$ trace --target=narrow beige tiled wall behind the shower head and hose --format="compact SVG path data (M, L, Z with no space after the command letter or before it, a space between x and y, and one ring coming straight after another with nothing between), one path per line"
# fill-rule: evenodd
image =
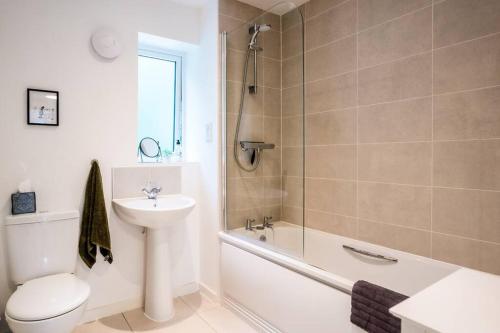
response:
M247 218L262 223L264 216L280 219L281 214L281 23L280 17L265 14L236 0L219 2L220 31L229 32L227 40L227 198L228 227L243 227ZM264 152L254 172L242 171L233 158L233 140L238 117L245 53L250 35L250 20L271 24L270 31L258 37L263 47L258 60L258 93L245 95L244 115L239 140L265 141L276 145ZM247 85L253 83L253 55L248 64ZM249 154L240 149L244 165Z

